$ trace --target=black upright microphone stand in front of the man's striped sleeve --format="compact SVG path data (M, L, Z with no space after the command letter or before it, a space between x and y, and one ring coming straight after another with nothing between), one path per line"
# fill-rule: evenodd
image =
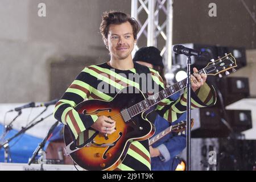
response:
M187 55L187 167L186 171L191 171L191 55Z

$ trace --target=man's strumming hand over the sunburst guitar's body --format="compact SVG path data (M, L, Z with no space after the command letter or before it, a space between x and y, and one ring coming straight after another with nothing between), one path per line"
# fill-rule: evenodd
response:
M105 115L101 115L91 127L102 134L110 135L115 131L115 121Z

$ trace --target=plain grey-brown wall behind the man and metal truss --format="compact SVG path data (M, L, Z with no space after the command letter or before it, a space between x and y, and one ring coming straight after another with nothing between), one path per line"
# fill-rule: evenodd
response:
M46 3L46 17L38 16L40 2ZM217 5L217 17L208 16L210 2ZM256 2L245 3L255 13ZM73 60L77 68L66 73L73 80L81 61L86 65L108 60L99 32L102 12L130 13L130 7L130 0L0 1L0 102L48 101L51 85L57 84L52 83L52 63ZM255 22L239 0L174 0L173 42L254 49ZM247 69L253 69L255 61L252 56ZM67 81L62 89L70 80L60 80ZM251 85L254 94L256 85Z

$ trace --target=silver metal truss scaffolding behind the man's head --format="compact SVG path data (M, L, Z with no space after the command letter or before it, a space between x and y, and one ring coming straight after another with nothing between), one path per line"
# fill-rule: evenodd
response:
M131 0L131 17L141 26L137 45L146 38L147 44L141 46L158 47L167 72L172 67L172 3L173 0ZM138 48L135 46L134 51Z

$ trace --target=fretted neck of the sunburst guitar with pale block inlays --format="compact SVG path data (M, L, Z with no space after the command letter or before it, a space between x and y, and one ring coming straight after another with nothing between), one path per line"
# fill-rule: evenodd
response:
M198 73L199 74L205 73L205 71L204 71L204 69L201 69ZM127 109L127 111L129 113L130 117L132 118L135 115L141 113L142 111L149 109L151 106L158 104L164 98L170 97L172 94L179 92L179 90L184 89L185 87L187 87L187 78L185 78L182 81L177 82L176 84L174 84L166 89L163 89L162 91L154 94L153 96L146 98L145 100L143 100L141 102L138 102L137 104L129 107Z

